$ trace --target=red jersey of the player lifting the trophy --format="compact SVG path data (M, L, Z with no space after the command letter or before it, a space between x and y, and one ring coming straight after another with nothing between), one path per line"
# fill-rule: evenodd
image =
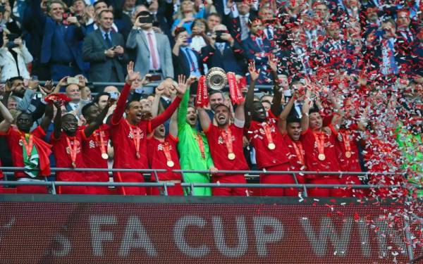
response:
M228 127L231 131L231 137L225 130L221 130L216 125L210 124L204 133L209 142L210 153L212 154L214 166L218 170L248 170L247 161L243 152L243 128L236 127L234 124ZM223 137L228 137L232 142L233 154L235 158L228 158L228 148Z

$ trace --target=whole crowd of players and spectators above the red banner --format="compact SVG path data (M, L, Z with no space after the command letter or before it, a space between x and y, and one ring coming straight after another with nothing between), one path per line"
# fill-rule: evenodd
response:
M420 1L405 0L1 0L1 164L24 167L15 172L23 181L51 180L51 167L166 169L150 180L175 183L170 195L186 192L180 182L245 183L245 175L222 170L369 171L365 179L259 179L402 184L310 188L309 196L403 196L422 184L422 18ZM204 76L216 68L229 92L208 89ZM209 173L172 172L180 168ZM108 172L54 177L109 181ZM113 180L145 177L114 172ZM249 189L195 187L193 194L246 196Z

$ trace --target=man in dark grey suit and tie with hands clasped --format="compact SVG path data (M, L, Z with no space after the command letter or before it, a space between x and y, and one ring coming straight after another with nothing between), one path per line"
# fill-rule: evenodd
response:
M124 65L128 60L123 50L125 42L121 34L113 32L113 13L99 13L99 28L87 35L82 46L82 58L90 62L90 81L124 82Z

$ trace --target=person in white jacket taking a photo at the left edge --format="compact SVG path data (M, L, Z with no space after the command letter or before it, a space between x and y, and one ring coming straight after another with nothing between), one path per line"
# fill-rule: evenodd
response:
M26 65L32 61L32 56L22 39L17 34L9 33L4 30L0 40L0 82L15 76L30 79Z

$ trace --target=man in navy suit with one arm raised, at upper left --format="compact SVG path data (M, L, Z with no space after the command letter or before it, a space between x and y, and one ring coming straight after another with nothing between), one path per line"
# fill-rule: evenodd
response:
M47 14L40 8L39 0L33 0L33 13L43 28L41 63L48 64L53 80L81 73L84 64L78 42L83 39L82 27L75 16L63 19L65 5L61 1L50 1Z

